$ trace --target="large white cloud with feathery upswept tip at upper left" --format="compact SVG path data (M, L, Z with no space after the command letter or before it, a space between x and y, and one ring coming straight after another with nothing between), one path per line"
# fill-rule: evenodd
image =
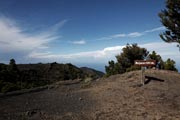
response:
M24 33L23 28L18 26L15 21L0 17L0 50L8 53L46 49L51 41L60 37L55 33L65 23L66 20L60 21L49 31L43 31L38 35L30 35Z

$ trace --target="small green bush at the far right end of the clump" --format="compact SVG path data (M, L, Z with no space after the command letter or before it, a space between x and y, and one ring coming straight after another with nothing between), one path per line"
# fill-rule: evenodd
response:
M167 61L164 62L164 69L177 71L175 64L176 62L174 60L171 60L170 58L168 58Z

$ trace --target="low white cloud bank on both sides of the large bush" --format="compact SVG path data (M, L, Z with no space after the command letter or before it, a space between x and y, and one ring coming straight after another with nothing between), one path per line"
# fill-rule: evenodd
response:
M146 48L148 51L156 51L162 56L164 60L167 58L180 61L179 51L176 44L169 44L165 42L153 42L146 44L139 44L140 47ZM109 60L115 60L115 56L122 52L122 48L125 46L112 46L106 47L102 50L79 52L72 54L53 54L50 52L46 53L32 53L28 57L33 59L51 59L60 61L78 61L90 62L90 63L107 63ZM171 52L174 51L174 52ZM179 63L178 63L179 64Z

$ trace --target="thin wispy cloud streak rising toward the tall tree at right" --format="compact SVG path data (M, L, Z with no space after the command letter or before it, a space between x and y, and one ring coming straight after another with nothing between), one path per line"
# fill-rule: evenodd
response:
M153 28L151 30L146 30L143 32L132 32L132 33L128 33L128 34L119 33L119 34L114 34L114 35L110 35L110 36L106 36L106 37L101 37L101 38L98 38L98 40L111 40L111 39L124 38L124 37L135 38L135 37L141 37L147 33L160 31L160 30L164 30L164 29L165 29L165 27L157 27L157 28Z

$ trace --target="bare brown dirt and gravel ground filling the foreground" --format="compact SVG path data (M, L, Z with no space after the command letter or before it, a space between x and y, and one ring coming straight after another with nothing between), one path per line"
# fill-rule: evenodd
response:
M54 84L39 92L0 98L0 119L179 120L180 74L133 71L85 83Z

